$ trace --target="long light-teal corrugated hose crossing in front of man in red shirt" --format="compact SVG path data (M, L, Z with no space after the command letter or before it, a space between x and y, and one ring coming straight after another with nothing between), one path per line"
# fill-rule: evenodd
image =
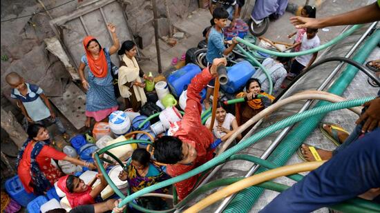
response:
M265 136L268 136L269 134L272 134L273 132L276 132L278 130L281 130L288 125L292 125L296 122L302 121L306 118L309 118L311 116L315 116L317 114L324 114L327 112L331 112L334 110L340 110L343 108L352 108L355 106L359 106L367 101L370 101L374 99L374 97L365 97L361 99L354 99L354 100L348 100L348 101L342 101L338 103L331 103L328 105L323 105L319 108L314 108L312 110L307 110L305 112L301 112L298 114L294 114L292 116L289 116L288 118L284 119L283 121L278 121L274 123L273 125L270 125L268 128L265 128L265 130L261 130L260 132L257 132L256 134L250 136L247 140L241 141L234 147L230 148L229 150L226 150L219 156L216 156L214 159L211 159L210 161L200 165L198 168L191 170L189 172L186 172L184 174L181 174L179 176L175 176L172 179L169 179L167 181L162 181L160 183L156 183L155 185L151 185L149 187L145 187L144 189L135 192L131 194L130 196L127 196L125 199L123 199L122 202L120 202L119 206L126 205L126 203L129 203L133 201L133 199L136 199L137 197L141 196L142 194L146 194L149 192L152 192L154 190L158 190L162 187L165 187L167 185L171 185L173 183L178 183L179 181L183 181L185 179L188 179L191 176L194 176L196 174L199 174L200 172L203 172L205 170L208 170L209 168L213 167L214 165L217 165L218 163L224 161L232 154L236 154L236 152L239 152L240 150L243 150L250 145L254 144L256 141L263 139Z

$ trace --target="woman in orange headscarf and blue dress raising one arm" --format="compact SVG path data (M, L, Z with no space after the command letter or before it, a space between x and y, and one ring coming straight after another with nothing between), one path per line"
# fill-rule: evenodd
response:
M108 23L113 39L111 48L102 48L99 41L94 37L84 38L83 45L86 54L79 64L79 77L82 85L87 90L86 94L86 127L91 125L91 117L95 121L102 121L111 112L117 110L118 105L113 90L113 77L111 75L111 58L120 47L117 39L116 28L112 23ZM84 77L84 68L88 65L88 78Z

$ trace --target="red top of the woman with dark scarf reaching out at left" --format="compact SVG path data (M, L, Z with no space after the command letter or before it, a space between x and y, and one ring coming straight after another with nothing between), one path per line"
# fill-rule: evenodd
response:
M33 192L33 188L30 186L30 182L32 181L32 177L30 176L30 154L32 153L34 144L35 143L29 143L26 146L17 170L19 179L28 193ZM65 157L66 154L64 154L64 152L59 152L49 145L44 145L41 152L39 152L36 157L39 169L45 174L46 178L50 181L50 183L52 183L52 185L64 174L55 168L55 166L50 164L51 159L63 160Z

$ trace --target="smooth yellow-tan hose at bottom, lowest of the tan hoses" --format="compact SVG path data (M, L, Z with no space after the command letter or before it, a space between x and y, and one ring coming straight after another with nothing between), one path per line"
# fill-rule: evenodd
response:
M319 166L321 166L325 162L326 161L312 161L306 163L297 163L294 165L285 165L281 168L276 168L260 174L255 174L254 176L250 176L227 187L224 187L222 188L222 190L214 192L213 194L205 197L204 199L196 203L196 205L192 205L191 207L189 207L189 209L184 211L184 213L199 212L200 210L203 210L205 207L215 203L216 201L224 199L225 197L234 194L235 192L238 192L240 190L243 190L251 185L263 183L265 181L275 179L279 176L286 176L298 172L309 172L311 170L319 168Z

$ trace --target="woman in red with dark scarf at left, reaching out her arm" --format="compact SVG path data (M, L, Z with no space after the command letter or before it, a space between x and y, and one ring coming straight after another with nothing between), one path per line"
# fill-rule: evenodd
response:
M48 130L39 124L28 127L28 140L23 144L17 156L17 174L26 192L44 194L64 174L51 164L51 159L69 161L91 169L95 165L66 156L52 148Z

